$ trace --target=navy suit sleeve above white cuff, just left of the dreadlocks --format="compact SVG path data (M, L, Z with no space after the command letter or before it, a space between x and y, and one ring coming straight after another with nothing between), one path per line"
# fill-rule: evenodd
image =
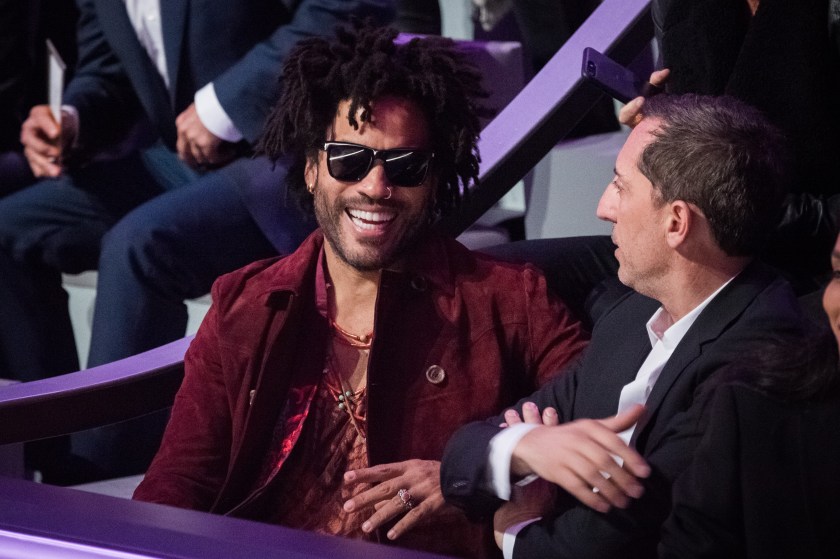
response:
M385 0L303 0L288 24L277 28L239 62L213 80L219 103L236 128L253 144L277 101L283 61L301 39L331 33L351 16L384 24L394 16Z

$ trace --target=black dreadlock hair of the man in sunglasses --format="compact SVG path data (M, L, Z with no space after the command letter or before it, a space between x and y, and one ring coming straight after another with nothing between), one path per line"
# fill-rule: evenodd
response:
M419 105L429 124L438 177L438 214L457 208L470 183L478 179L479 105L487 97L481 74L466 62L454 43L441 37L394 42L397 31L354 20L336 30L336 37L304 39L283 66L282 93L269 115L257 151L276 161L292 159L289 192L312 211L306 195L307 159L316 160L327 141L338 105L349 100L349 123L358 129L370 119L371 103L385 96Z

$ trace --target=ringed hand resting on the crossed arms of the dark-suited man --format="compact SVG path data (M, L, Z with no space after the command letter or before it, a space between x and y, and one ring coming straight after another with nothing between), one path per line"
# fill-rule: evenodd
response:
M527 408L524 410L527 413ZM643 413L643 406L634 406L608 419L537 427L514 448L511 474L536 474L599 512L614 506L626 508L631 498L642 496L644 488L638 478L650 475L650 467L617 433L636 423Z

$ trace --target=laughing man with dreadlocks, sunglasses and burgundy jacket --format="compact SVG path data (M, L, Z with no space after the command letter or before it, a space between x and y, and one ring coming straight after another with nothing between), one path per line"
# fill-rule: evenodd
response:
M262 150L320 225L223 276L135 498L462 556L439 460L583 348L532 267L434 233L476 179L478 73L450 41L356 25L288 58ZM492 543L490 544L492 545Z

